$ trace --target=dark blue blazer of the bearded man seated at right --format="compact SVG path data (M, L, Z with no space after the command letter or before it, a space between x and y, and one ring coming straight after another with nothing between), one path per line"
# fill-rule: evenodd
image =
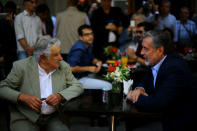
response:
M140 95L136 106L148 111L163 112L165 131L185 131L196 117L196 86L192 73L176 53L167 55L157 74L155 87L151 69L140 86L149 96ZM196 117L197 118L197 117Z

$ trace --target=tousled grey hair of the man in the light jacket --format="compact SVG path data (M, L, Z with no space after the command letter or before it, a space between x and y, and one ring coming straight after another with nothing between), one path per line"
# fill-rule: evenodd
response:
M56 45L60 46L60 44L60 40L51 38L49 35L39 37L34 45L35 49L33 55L35 56L36 61L39 61L41 54L44 54L49 59L51 48Z

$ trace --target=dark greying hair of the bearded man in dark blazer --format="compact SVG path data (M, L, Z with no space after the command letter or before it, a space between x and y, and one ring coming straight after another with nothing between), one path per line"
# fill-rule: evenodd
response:
M164 31L148 31L144 33L142 39L146 37L152 37L152 46L154 49L163 46L165 55L173 51L172 40L169 33Z

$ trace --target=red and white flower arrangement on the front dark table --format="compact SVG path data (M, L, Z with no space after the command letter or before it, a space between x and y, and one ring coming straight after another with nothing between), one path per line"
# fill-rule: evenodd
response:
M120 92L120 88L123 80L129 80L130 68L122 67L120 61L116 61L115 64L109 64L108 72L104 77L112 82L112 90Z

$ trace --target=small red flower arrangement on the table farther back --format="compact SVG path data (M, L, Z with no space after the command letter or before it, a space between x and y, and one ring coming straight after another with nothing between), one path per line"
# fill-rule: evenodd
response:
M117 60L119 57L120 50L113 46L107 46L104 48L104 54L107 57L111 57L112 60Z

